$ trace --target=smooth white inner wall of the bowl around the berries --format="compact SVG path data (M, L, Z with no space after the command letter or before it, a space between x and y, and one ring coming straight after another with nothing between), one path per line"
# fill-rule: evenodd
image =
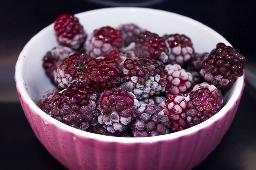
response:
M77 14L76 17L79 18L80 23L84 26L87 33L91 33L94 29L103 26L116 28L123 23L135 23L160 36L173 33L185 34L191 38L196 52L199 53L210 52L216 47L218 42L223 42L231 46L231 44L216 31L196 20L156 9L106 8L82 12ZM45 113L37 108L34 103L38 102L44 92L54 89L54 85L51 84L44 72L42 59L46 52L55 46L57 46L57 41L54 36L53 24L51 24L36 34L26 44L16 64L15 78L17 87L26 102L28 102L34 110L37 110L38 114ZM238 81L243 82L242 79L242 77L238 78ZM237 82L226 94L226 102L233 94L235 86L237 86L236 84ZM240 86L241 83L237 88L240 88ZM232 103L230 105L232 105ZM224 111L222 114L224 114ZM48 117L50 119L50 116Z

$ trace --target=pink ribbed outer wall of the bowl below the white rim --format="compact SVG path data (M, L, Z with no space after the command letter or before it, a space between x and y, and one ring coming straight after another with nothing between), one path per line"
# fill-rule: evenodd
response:
M192 169L220 143L235 116L242 92L233 107L206 128L175 139L145 143L106 142L63 131L35 113L20 94L19 98L35 135L68 169Z

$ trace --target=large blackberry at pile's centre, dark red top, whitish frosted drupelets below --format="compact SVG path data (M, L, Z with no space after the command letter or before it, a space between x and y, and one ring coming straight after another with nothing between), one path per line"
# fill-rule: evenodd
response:
M166 70L162 62L151 58L126 59L122 69L121 88L135 94L138 100L165 91Z

